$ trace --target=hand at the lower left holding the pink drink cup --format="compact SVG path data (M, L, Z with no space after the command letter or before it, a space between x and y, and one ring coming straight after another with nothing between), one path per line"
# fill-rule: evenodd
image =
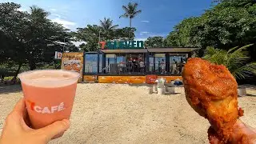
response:
M42 129L30 128L25 101L22 98L6 118L0 144L46 144L53 138L61 137L69 127L70 121L64 119Z

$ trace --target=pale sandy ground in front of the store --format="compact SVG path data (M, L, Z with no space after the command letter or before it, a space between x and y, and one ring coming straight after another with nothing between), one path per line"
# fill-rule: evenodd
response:
M242 121L256 127L256 87L239 98ZM148 94L147 86L78 84L71 126L51 144L208 143L205 118L184 94ZM0 131L6 115L22 97L20 86L0 86Z

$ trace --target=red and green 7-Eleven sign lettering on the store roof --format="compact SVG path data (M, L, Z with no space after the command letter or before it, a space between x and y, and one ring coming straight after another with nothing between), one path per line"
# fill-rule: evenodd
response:
M114 42L99 42L102 45L102 50L117 50L117 49L144 49L143 41L114 41Z

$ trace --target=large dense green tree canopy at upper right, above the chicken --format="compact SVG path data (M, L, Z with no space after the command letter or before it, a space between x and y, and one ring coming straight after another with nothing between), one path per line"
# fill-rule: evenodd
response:
M196 18L186 18L174 27L166 39L168 45L207 46L228 50L256 42L256 1L222 0ZM256 60L256 46L250 47Z

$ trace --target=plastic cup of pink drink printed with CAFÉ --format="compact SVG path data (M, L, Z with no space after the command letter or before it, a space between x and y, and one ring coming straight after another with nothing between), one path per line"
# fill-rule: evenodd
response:
M19 74L34 129L69 119L79 74L66 70L32 70Z

